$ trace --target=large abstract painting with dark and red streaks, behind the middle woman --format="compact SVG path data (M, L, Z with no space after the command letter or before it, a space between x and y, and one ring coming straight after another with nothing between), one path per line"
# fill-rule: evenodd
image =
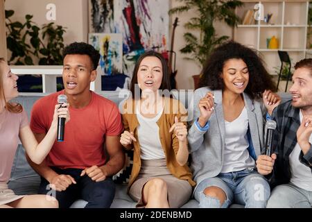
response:
M121 33L123 74L132 77L137 58L146 50L168 50L167 0L89 0L90 31ZM114 27L112 27L112 20ZM102 29L103 28L103 29Z

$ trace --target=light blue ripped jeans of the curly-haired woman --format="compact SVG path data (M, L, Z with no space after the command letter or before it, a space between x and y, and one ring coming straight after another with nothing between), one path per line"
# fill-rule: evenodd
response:
M203 191L207 187L223 189L226 200L220 205L220 200L206 196ZM202 208L227 208L232 203L245 205L246 208L265 208L270 197L270 186L266 178L254 169L220 173L214 178L202 180L194 191L194 197Z

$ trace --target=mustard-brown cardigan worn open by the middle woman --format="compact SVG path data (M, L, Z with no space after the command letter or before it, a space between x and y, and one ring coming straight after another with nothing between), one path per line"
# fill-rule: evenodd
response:
M185 110L182 103L180 103L180 101L168 97L164 98L164 111L162 116L157 121L157 125L159 126L159 139L162 144L162 148L164 148L168 170L176 178L187 180L191 186L195 186L196 182L192 180L192 174L187 164L180 166L180 164L177 163L175 155L177 155L177 151L179 149L179 141L173 132L169 133L171 126L175 122L175 116L177 116L179 120L182 117L182 121L184 120L183 123L187 125L187 111ZM132 185L133 182L135 182L135 179L139 175L139 171L141 169L141 150L137 135L139 121L137 120L137 114L135 114L135 103L137 102L132 99L125 101L122 112L123 126L125 130L134 132L135 138L137 139L137 142L133 142L132 144L132 148L134 149L133 167L128 188ZM185 117L185 119L183 119L183 117Z

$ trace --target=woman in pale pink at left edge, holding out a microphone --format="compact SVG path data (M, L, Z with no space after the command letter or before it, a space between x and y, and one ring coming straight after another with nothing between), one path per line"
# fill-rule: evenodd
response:
M17 79L18 77L12 74L7 63L0 58L0 208L58 207L58 200L52 196L18 196L14 191L8 189L7 183L10 179L18 139L31 160L40 164L55 142L58 117L64 117L69 121L68 105L64 103L63 108L60 108L60 105L55 105L55 110L51 110L51 112L54 111L51 128L42 142L38 144L29 127L25 110L20 104L9 102L18 96Z

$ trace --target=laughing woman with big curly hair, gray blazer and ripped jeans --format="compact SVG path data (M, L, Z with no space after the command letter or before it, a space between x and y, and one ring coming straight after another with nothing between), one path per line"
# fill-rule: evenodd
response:
M270 186L255 162L266 114L280 103L274 89L257 51L231 41L211 53L194 93L188 135L200 207L228 207L234 201L266 207Z

